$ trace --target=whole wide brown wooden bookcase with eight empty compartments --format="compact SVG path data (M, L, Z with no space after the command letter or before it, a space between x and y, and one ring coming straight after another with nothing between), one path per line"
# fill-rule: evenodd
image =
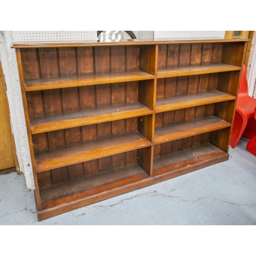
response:
M13 45L38 220L227 160L247 41Z

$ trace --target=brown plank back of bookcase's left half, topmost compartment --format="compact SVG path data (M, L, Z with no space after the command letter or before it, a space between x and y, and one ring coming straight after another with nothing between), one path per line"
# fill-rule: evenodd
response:
M21 49L24 79L139 70L139 46Z

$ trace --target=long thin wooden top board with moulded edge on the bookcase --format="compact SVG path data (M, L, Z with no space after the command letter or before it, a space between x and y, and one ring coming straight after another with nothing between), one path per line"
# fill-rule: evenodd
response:
M11 48L54 48L54 47L88 47L88 46L120 46L120 45L162 45L162 44L187 44L200 42L239 42L249 39L121 39L121 40L80 40L80 41L27 41L15 42Z

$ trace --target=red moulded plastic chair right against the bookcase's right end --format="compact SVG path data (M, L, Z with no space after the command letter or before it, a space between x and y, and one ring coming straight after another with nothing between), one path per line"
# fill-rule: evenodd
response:
M241 136L252 138L256 133L253 127L256 127L254 119L254 110L256 107L256 99L248 95L248 84L246 79L246 67L243 65L240 88L238 92L238 100L236 106L236 114L232 127L230 146L236 147ZM255 123L255 125L254 125Z

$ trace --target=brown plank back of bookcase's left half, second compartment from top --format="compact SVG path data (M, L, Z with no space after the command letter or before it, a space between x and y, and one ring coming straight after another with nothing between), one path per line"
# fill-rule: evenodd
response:
M145 101L139 99L139 81L32 91L26 96L30 118Z

